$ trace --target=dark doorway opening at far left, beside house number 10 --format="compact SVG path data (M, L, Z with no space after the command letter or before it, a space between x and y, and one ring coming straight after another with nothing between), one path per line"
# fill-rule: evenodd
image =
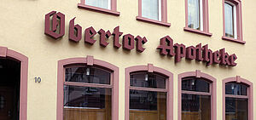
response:
M0 59L0 120L19 120L20 62Z

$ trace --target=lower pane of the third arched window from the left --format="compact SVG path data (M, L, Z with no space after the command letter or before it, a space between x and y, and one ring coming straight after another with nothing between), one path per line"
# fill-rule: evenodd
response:
M211 96L182 94L182 120L211 120Z

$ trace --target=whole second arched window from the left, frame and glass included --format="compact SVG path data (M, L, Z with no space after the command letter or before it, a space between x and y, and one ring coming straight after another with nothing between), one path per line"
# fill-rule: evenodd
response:
M172 73L153 65L125 69L125 120L172 120Z

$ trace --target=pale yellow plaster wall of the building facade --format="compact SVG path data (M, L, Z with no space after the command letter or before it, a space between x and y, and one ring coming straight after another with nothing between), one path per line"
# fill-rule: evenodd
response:
M222 0L209 0L209 27L212 37L183 31L185 26L184 0L167 0L168 22L171 27L157 26L137 21L137 0L117 0L119 16L96 13L79 9L80 0L1 0L0 1L0 46L8 47L29 58L28 68L28 102L27 120L55 120L56 117L56 87L57 61L73 57L93 55L95 59L104 60L119 67L119 120L125 120L125 68L129 66L154 64L173 73L174 108L173 120L177 120L177 74L185 71L201 70L217 82L217 119L222 120L222 80L237 75L256 84L254 75L256 70L255 56L255 0L242 1L242 30L243 40L247 43L231 43L221 39L223 36L223 6ZM56 10L66 14L66 34L55 40L44 35L44 15ZM113 48L113 37L108 39L109 45L102 48L99 45L99 36L94 45L68 40L69 20L77 17L76 24L85 28L93 26L96 31L101 28L113 31L120 26L124 34L147 37L148 43L143 47L143 53L135 49L127 52L124 49ZM123 34L123 35L124 35ZM225 48L230 54L236 54L237 66L206 66L205 63L183 59L177 64L174 58L160 56L157 46L160 38L169 35L174 43L183 43L186 46L195 46L198 43L208 44L212 50ZM34 83L34 77L41 77L41 83ZM254 89L256 93L256 89ZM254 94L256 96L256 94ZM256 99L254 99L256 103ZM254 105L254 115L256 106Z

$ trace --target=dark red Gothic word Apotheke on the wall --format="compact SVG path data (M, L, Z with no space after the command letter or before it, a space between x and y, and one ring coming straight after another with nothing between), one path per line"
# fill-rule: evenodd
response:
M207 66L214 64L220 64L224 66L236 66L236 54L229 55L225 52L225 49L219 49L212 51L208 49L208 44L201 46L201 43L194 46L186 46L183 43L173 43L171 37L166 36L160 39L160 45L157 49L160 49L161 55L174 56L175 62L181 61L182 58L187 60L198 60L207 62Z

